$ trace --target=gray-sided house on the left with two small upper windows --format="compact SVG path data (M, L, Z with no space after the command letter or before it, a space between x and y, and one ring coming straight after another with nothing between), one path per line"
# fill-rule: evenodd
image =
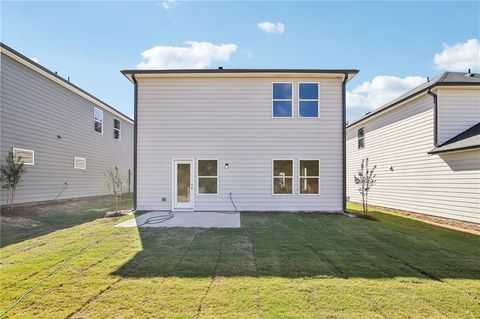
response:
M0 103L0 160L13 151L27 169L17 203L108 194L114 165L133 176L133 120L4 44Z

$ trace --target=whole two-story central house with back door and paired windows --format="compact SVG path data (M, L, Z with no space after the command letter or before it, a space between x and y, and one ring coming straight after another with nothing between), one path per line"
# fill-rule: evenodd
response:
M357 72L122 71L135 84L135 208L343 211Z

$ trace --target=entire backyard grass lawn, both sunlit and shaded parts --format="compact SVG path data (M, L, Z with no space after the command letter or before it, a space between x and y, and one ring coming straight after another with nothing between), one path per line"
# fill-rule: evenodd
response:
M1 249L0 311L92 245L5 317L480 317L479 236L372 214L245 213L241 229L113 227L121 217L16 237Z

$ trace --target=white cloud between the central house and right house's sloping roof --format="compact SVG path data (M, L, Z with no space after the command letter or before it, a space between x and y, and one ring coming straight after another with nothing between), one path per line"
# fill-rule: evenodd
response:
M365 81L353 91L347 92L347 107L373 110L414 87L425 83L427 79L420 76L378 75L372 81Z

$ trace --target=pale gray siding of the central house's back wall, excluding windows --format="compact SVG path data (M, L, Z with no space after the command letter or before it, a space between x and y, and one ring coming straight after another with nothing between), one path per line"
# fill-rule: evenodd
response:
M320 118L297 117L299 81L320 82ZM272 82L294 82L294 118L272 118ZM219 194L195 189L195 210L232 210L229 193L243 211L342 210L341 79L139 79L137 116L139 209L172 208L173 159L196 175L212 158ZM272 195L274 158L295 160L295 195ZM320 160L320 195L298 195L299 158Z

